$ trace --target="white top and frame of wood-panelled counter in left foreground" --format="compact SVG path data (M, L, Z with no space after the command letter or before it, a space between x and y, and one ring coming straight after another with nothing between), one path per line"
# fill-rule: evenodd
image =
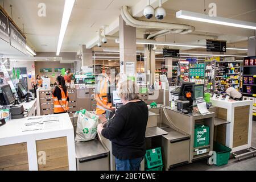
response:
M29 118L47 118L55 117L59 119L59 127L51 129L42 129L36 131L22 131L24 123L28 122ZM38 170L37 154L36 154L36 140L44 140L51 138L67 137L68 145L68 160L69 170L76 170L75 160L75 138L73 134L73 125L69 115L44 115L38 117L28 117L23 119L15 119L6 122L5 125L0 127L0 146L6 146L16 143L27 143L28 162L30 170Z

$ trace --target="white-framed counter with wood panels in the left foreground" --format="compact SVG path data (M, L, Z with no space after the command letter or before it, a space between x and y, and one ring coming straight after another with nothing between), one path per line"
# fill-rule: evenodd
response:
M76 170L68 114L27 117L0 127L0 171Z

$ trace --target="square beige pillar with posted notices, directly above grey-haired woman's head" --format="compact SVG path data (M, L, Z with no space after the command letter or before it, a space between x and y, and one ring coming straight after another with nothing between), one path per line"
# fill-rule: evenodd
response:
M122 16L119 16L119 42L120 73L137 73L136 28L127 26Z

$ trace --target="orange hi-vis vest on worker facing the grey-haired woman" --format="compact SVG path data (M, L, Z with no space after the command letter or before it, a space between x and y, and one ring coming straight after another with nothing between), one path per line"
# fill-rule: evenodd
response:
M101 78L100 80L100 100L104 105L112 105L111 103L108 104L108 81L105 80L106 78ZM103 82L104 81L104 82ZM98 102L97 102L97 107L96 107L96 114L104 114L106 112L106 109L102 107Z

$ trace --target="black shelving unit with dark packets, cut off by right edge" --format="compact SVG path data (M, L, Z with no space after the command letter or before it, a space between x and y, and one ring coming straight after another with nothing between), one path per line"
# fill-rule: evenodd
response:
M242 79L243 100L253 100L256 107L256 56L245 57ZM256 110L253 109L253 121L256 121Z

